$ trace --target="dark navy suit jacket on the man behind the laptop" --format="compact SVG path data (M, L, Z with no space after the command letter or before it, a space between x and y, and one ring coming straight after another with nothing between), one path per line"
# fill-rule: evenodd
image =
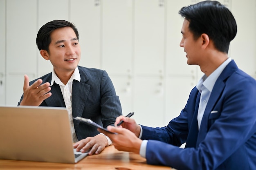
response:
M81 76L80 82L73 81L72 87L72 114L95 121L97 124L107 127L115 123L116 117L122 115L119 97L106 71L96 68L78 66ZM52 80L52 73L40 77L43 83ZM31 81L33 84L37 79ZM45 99L40 106L65 107L61 88L54 82L51 86L52 96ZM23 99L23 95L20 102ZM18 102L18 105L20 104ZM87 124L74 120L74 128L78 140L92 137L99 132Z

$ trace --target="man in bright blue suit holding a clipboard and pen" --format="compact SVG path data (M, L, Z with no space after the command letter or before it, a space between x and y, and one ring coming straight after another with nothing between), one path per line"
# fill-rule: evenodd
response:
M204 73L180 115L162 128L120 116L104 132L118 150L177 170L256 170L256 80L228 57L236 21L217 1L183 7L182 40L187 64ZM185 148L179 148L186 142Z

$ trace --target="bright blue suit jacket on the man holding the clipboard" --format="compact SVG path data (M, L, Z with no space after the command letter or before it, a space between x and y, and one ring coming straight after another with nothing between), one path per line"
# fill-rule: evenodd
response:
M146 159L177 170L256 170L256 81L232 60L214 84L198 131L200 93L163 128L142 126ZM184 149L179 148L186 142ZM171 144L171 145L170 145Z

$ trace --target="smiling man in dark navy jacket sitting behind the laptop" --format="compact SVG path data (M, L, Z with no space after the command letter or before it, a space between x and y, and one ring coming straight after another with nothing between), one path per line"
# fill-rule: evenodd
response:
M106 71L78 66L81 57L79 34L74 24L53 20L43 25L36 44L53 71L29 82L25 75L23 95L18 105L65 107L69 113L74 148L99 154L111 140L97 129L73 121L79 116L103 127L113 125L122 115L119 97ZM56 125L57 126L57 125Z

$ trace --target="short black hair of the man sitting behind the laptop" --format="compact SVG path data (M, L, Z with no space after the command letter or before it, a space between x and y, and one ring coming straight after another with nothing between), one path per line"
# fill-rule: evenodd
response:
M63 27L72 28L76 34L77 40L79 40L79 34L74 24L65 20L53 20L43 25L37 33L36 45L39 51L46 50L49 53L49 44L52 41L51 40L52 31L54 31L55 29L63 28Z

